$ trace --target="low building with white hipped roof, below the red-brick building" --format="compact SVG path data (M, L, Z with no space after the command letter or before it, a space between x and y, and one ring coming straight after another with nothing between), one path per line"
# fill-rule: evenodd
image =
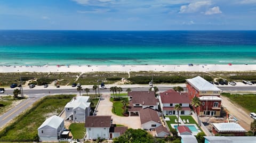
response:
M238 123L212 123L212 132L222 135L245 136L247 131Z

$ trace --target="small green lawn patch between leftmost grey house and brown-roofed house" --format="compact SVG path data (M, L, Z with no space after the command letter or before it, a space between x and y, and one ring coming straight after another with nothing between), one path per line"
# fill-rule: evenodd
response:
M85 135L84 123L71 123L69 126L73 139L82 139Z

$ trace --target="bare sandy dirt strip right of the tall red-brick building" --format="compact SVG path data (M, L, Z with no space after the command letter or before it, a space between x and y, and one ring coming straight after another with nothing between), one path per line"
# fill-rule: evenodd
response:
M239 124L247 131L250 130L253 119L249 116L249 112L245 111L241 106L230 102L227 97L221 96L222 106L226 107L229 114L234 115L239 121Z

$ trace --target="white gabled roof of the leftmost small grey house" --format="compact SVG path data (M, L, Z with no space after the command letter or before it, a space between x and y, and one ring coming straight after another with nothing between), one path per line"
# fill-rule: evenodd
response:
M46 125L54 128L54 129L58 129L58 127L60 126L60 124L64 121L64 119L62 119L61 117L57 116L57 115L53 115L51 117L49 117L48 119L46 119L38 129L41 129L43 127L45 127Z

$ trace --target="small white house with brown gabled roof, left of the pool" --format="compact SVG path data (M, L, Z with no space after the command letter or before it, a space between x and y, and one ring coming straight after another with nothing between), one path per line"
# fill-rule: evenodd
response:
M155 129L162 125L157 111L151 108L140 110L141 128L145 130Z

